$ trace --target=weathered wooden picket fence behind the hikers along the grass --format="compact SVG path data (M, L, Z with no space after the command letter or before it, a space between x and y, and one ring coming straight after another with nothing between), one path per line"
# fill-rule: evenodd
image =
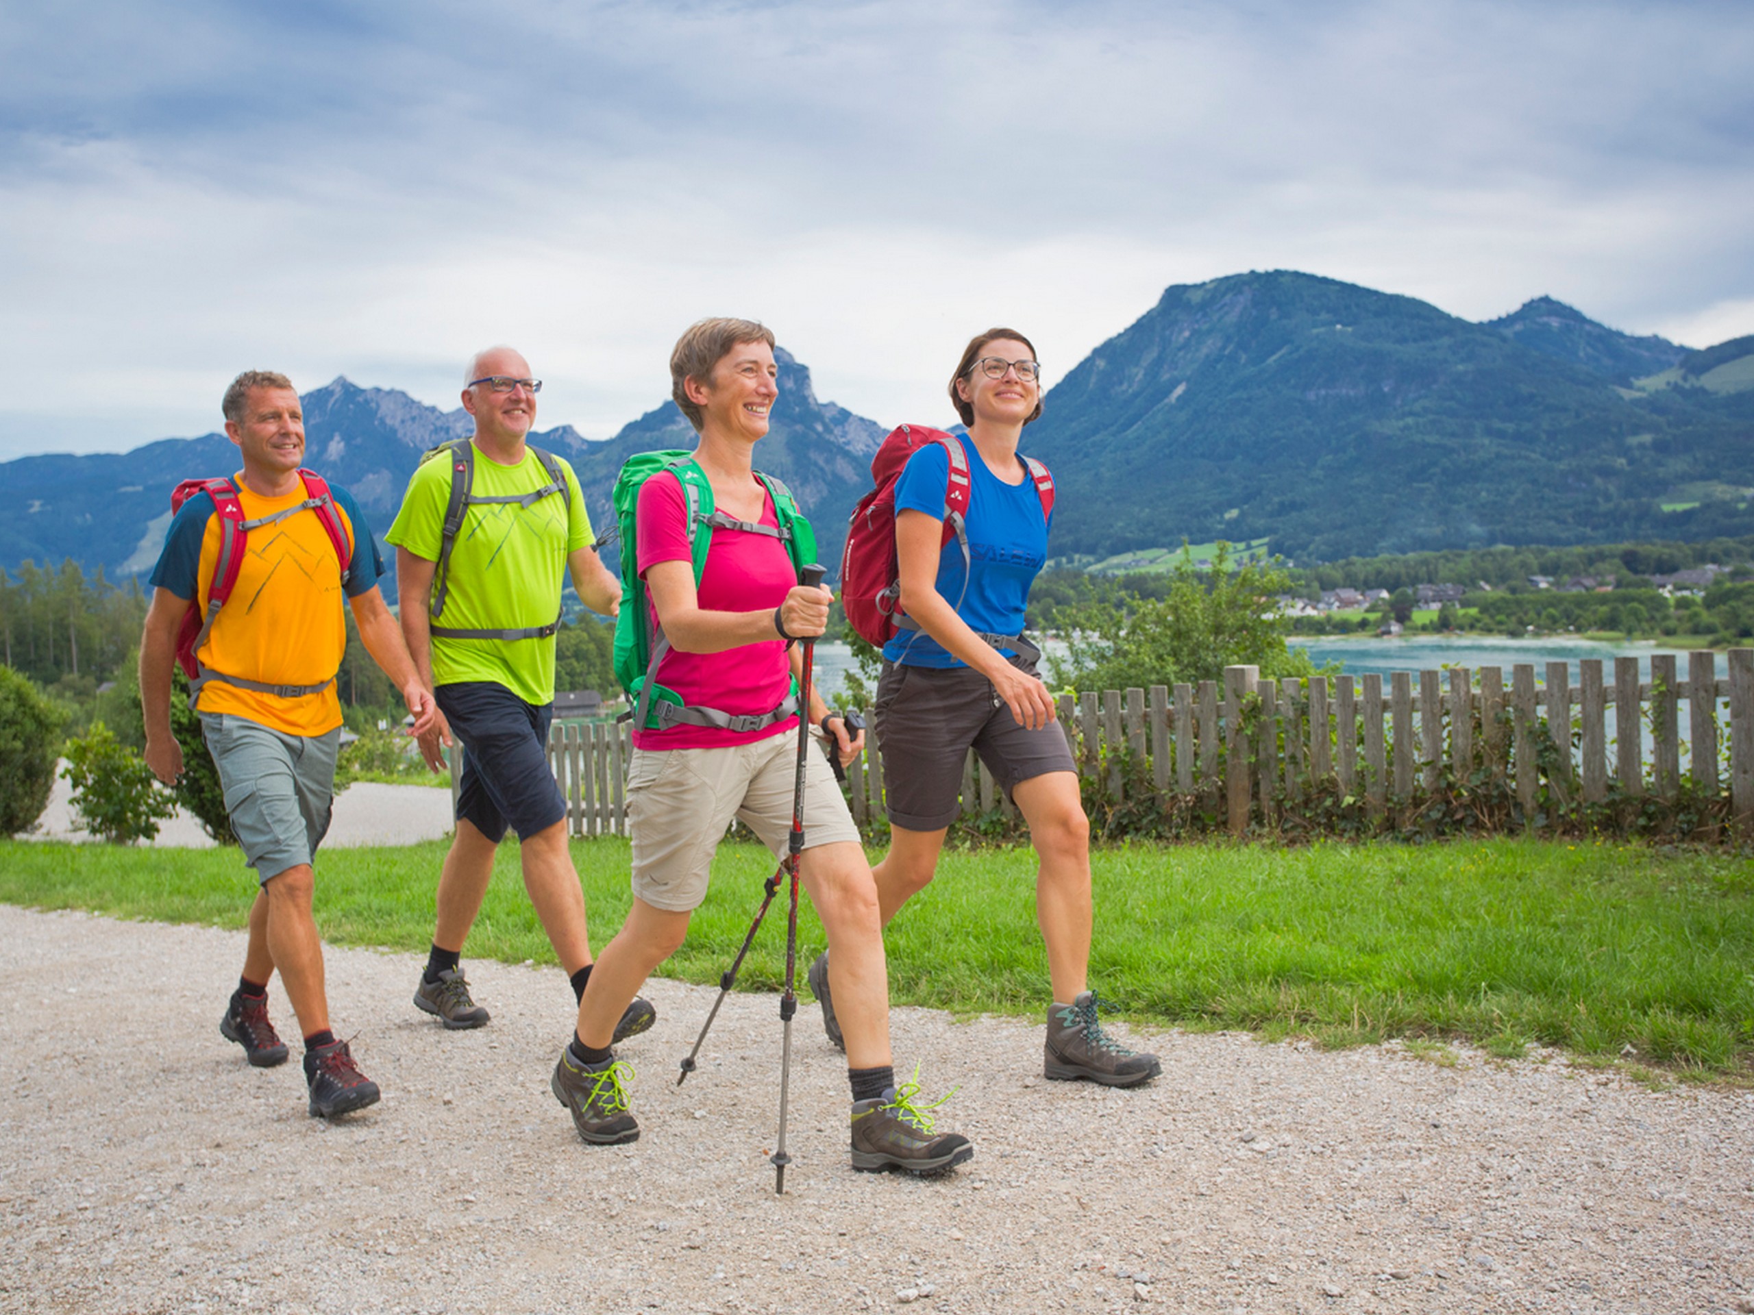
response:
M1123 803L1149 778L1165 808L1205 800L1237 835L1314 791L1356 796L1380 819L1417 791L1433 791L1445 770L1466 777L1482 763L1526 817L1544 784L1545 798L1561 805L1601 803L1610 789L1673 800L1686 749L1691 791L1728 793L1731 819L1754 838L1754 649L1731 649L1722 675L1717 665L1708 649L1689 652L1682 679L1680 658L1659 652L1651 679L1640 680L1636 658L1612 666L1587 658L1575 686L1563 661L1545 665L1545 680L1533 663L1517 663L1508 684L1501 666L1393 672L1387 680L1261 680L1258 668L1228 666L1223 680L1063 694L1059 717L1086 787ZM572 835L626 833L630 759L624 722L554 724L549 761ZM453 761L453 789L454 771ZM882 815L875 731L847 768L847 796L858 822ZM966 817L1012 808L973 752L963 764L961 808Z

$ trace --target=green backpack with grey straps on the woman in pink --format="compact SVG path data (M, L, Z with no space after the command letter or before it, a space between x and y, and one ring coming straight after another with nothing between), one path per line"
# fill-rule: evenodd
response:
M712 484L707 473L695 461L693 452L640 452L630 456L621 473L616 475L614 503L616 530L621 537L621 612L616 617L616 680L635 700L637 712L633 726L642 731L663 731L672 726L712 726L721 731L759 731L775 722L782 722L798 712L798 686L793 682L786 701L772 712L733 715L719 708L688 707L681 694L665 689L656 682L658 663L670 652L670 640L663 628L652 626L651 605L645 601L645 580L638 568L638 535L633 528L633 515L638 508L640 489L645 480L661 470L668 470L682 484L688 498L688 540L695 554L695 586L707 570L707 549L712 547L714 530L735 530L745 535L768 535L786 545L793 568L802 570L816 561L816 531L803 519L791 491L772 475L756 472L756 479L774 498L774 510L779 515L779 530L749 521L733 521L724 512L716 510L712 501Z

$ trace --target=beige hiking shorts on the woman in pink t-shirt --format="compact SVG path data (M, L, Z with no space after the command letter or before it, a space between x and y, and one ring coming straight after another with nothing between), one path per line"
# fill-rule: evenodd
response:
M859 843L819 745L810 745L805 763L803 847ZM700 908L712 854L733 817L775 859L784 857L796 768L796 731L723 749L635 749L628 770L633 894L674 913Z

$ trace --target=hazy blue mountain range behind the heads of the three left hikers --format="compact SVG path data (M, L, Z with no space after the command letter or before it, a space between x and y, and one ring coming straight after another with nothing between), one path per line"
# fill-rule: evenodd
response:
M786 351L775 358L781 396L758 459L798 494L823 540L824 561L838 563L847 515L868 480L870 454L884 430L844 407L817 402L810 372ZM461 409L438 410L407 393L360 387L347 379L300 400L307 465L353 493L379 542L421 454L474 430ZM572 426L533 433L531 440L574 463L586 510L598 533L607 535L612 528L609 489L621 461L652 447L693 447L695 431L675 403L665 402L603 442L586 440ZM177 482L235 468L237 449L223 433L165 438L123 454L28 456L0 463L0 489L5 491L0 496L0 565L74 558L88 570L102 565L112 579L149 572L170 524L170 491Z

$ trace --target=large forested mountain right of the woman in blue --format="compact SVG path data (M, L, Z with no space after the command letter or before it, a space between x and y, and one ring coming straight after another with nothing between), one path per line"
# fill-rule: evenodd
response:
M1331 559L1754 531L1754 393L1617 387L1603 368L1628 359L1608 351L1624 335L1579 330L1591 349L1570 358L1522 342L1556 340L1540 330L1554 307L1519 333L1296 272L1168 288L1026 433L1059 480L1054 552L1270 538Z

